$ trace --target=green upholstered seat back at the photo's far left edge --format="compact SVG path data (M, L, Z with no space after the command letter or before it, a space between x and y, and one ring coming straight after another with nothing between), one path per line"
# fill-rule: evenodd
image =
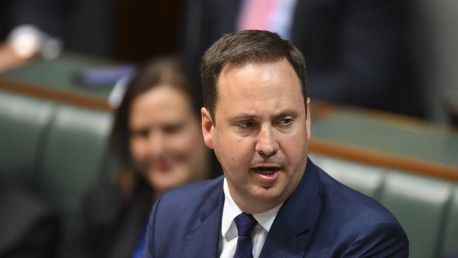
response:
M54 104L0 91L0 171L32 187Z

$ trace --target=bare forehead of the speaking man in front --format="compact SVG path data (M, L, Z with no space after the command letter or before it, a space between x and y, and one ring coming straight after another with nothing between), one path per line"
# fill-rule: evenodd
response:
M219 79L216 112L229 115L252 110L259 113L265 111L266 106L281 112L297 107L298 102L304 105L299 78L286 59L225 66ZM271 115L274 116L272 112Z

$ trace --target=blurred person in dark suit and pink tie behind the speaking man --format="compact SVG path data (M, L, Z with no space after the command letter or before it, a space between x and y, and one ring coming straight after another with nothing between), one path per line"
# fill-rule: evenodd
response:
M225 33L270 30L304 54L315 101L426 113L409 60L406 0L185 0L183 6L180 50L193 61Z

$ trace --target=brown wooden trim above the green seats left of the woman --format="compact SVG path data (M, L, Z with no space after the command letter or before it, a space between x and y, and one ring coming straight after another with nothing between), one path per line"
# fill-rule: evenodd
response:
M76 106L84 106L89 109L112 111L108 102L104 101L104 99L64 92L62 90L49 89L39 85L13 82L11 80L5 80L4 78L0 78L0 89L30 95L32 97L39 97L42 99L51 99L56 102L65 102Z

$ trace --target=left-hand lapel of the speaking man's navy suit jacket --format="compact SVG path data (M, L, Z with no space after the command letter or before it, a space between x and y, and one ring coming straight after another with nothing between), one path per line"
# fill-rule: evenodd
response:
M206 202L200 210L197 226L185 239L185 257L201 258L216 257L218 255L221 216L223 213L224 194L223 181L216 191L216 202ZM209 198L211 199L211 198Z

